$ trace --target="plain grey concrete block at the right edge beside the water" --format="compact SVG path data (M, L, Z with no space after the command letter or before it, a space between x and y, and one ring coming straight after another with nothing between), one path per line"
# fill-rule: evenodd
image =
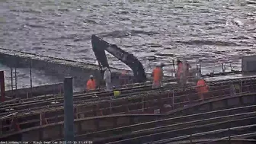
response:
M256 56L242 57L242 72L256 72Z

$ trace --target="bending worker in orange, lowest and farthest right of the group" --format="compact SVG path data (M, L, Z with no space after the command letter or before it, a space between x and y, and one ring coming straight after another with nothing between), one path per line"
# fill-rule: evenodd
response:
M208 91L209 91L209 86L206 84L206 81L203 78L200 78L197 81L197 92L198 92L199 98L202 101L204 101Z

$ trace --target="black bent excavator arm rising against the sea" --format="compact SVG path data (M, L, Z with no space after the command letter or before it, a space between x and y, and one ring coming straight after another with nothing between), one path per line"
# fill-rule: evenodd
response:
M145 70L142 66L142 63L139 62L139 60L135 56L120 49L115 44L107 43L106 41L102 40L100 37L97 37L94 34L91 36L91 45L101 69L102 67L109 68L107 56L105 53L105 50L107 50L108 53L115 56L117 59L125 63L133 70L133 75L136 78L137 82L146 82Z

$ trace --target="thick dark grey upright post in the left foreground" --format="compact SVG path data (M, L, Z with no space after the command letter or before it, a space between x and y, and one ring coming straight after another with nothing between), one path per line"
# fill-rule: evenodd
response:
M64 79L64 140L74 141L73 78Z

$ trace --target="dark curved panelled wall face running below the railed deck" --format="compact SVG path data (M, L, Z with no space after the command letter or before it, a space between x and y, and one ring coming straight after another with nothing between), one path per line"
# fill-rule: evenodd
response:
M238 103L235 102L238 100ZM218 110L220 107L237 107L241 104L255 104L256 98L254 94L241 94L235 97L225 97L217 98L210 101L205 101L203 103L194 105L193 107L184 107L181 111L190 110L197 111L201 107L205 110ZM206 107L208 106L208 107ZM174 111L173 114L179 113L179 111ZM172 114L172 115L173 115ZM185 113L182 113L185 114ZM91 133L101 130L113 129L120 126L128 126L136 123L148 122L150 120L157 120L159 117L166 117L165 115L159 114L126 114L126 115L112 115L104 117L88 117L85 119L75 120L75 133L76 135L82 133ZM27 130L20 130L13 133L5 134L0 136L2 140L53 140L62 139L63 137L63 122L50 123L47 125L36 126L34 128L29 128ZM25 134L25 135L24 135ZM25 138L27 137L27 139Z

